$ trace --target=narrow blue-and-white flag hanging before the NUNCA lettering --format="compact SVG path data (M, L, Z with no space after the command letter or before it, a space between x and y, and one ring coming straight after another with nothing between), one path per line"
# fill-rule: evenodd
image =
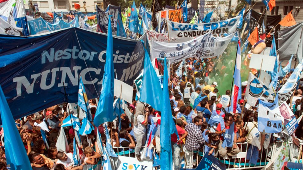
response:
M85 87L82 81L82 77L80 76L79 80L79 90L78 90L78 106L86 113L86 117L89 121L91 121L91 109L88 105L88 98L85 92Z

